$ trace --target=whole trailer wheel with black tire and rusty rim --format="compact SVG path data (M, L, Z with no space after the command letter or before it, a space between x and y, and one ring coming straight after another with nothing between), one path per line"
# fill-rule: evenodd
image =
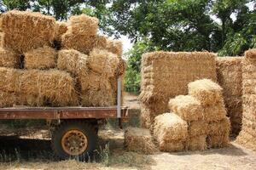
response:
M55 154L61 159L74 158L87 161L96 150L95 127L87 122L63 122L55 128L51 144Z

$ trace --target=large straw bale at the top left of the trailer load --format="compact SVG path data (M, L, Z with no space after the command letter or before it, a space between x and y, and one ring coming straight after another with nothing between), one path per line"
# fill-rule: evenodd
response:
M55 36L55 19L40 13L12 10L1 16L2 45L18 54L50 45Z

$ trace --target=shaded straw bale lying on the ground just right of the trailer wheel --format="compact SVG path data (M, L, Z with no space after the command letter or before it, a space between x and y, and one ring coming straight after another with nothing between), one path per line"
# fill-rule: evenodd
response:
M125 146L129 151L153 154L157 151L148 129L128 127L125 130Z

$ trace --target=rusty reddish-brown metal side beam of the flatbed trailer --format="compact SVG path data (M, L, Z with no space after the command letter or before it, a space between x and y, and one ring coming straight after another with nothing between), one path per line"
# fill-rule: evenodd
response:
M117 118L117 107L21 107L1 108L0 119L88 119ZM121 108L121 118L127 118L128 108Z

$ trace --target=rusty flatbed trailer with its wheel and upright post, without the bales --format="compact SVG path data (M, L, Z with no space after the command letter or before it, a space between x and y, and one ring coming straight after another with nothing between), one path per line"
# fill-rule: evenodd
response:
M99 126L106 119L127 120L128 108L121 106L121 79L117 105L112 107L12 107L0 109L0 120L41 119L52 130L51 146L61 159L86 161L97 146Z

